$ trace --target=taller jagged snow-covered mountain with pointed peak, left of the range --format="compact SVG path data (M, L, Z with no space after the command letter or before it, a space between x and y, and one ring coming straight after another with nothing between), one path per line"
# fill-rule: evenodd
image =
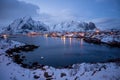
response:
M23 17L20 19L16 19L9 26L5 27L3 33L28 33L31 31L39 32L39 31L48 31L49 27L40 22L34 21L31 17Z

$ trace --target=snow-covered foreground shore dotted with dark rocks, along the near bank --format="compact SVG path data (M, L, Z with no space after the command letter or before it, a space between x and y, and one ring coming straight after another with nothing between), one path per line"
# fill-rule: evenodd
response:
M25 69L5 56L5 51L24 45L16 41L0 40L0 80L120 80L120 63L81 63L72 68Z

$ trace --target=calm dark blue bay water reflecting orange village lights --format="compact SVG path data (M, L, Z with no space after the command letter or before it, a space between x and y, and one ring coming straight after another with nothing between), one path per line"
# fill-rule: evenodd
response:
M103 62L120 58L119 48L86 43L83 39L50 38L44 36L16 36L12 40L39 45L33 52L22 52L26 56L24 63L59 67L82 62ZM43 59L41 59L43 57Z

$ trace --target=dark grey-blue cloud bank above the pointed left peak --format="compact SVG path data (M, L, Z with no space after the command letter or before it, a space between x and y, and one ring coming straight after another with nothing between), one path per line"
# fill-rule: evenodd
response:
M39 7L17 0L0 0L0 24L23 16L37 16Z

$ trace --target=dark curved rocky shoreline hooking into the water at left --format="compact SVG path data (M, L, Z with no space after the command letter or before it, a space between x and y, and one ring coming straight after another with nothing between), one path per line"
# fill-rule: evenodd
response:
M20 64L20 66L22 66L23 68L33 68L33 67L37 67L38 63L33 63L31 66L24 64L23 60L25 59L25 56L22 56L20 53L21 52L30 52L33 51L34 49L38 48L39 46L35 46L35 45L23 45L23 46L19 46L19 47L14 47L14 48L10 48L8 50L5 51L6 56L12 58L12 60L17 63ZM39 65L40 66L40 65Z

